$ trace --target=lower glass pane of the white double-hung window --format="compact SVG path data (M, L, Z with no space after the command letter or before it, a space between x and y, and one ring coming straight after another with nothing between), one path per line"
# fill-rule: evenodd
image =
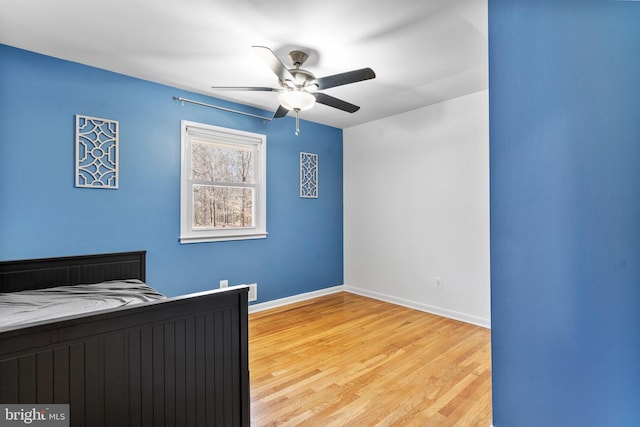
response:
M193 228L254 227L254 189L193 186Z

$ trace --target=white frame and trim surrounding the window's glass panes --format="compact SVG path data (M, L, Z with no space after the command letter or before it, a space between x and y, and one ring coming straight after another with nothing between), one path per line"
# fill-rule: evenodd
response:
M180 173L180 243L215 242L225 240L264 239L267 237L267 137L219 126L182 120ZM232 145L255 148L255 212L254 226L244 228L194 229L193 185L191 179L191 138L197 136Z

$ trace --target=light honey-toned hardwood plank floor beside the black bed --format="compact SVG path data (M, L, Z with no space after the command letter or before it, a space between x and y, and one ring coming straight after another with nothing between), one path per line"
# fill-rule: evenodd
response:
M253 426L491 425L490 331L341 292L249 316Z

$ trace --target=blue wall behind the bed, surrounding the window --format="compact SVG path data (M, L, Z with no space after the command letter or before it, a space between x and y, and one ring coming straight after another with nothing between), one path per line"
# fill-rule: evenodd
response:
M258 302L341 285L342 130L303 121L296 137L293 118L173 96L269 114L0 45L0 259L146 249L168 295L228 279L258 282ZM118 190L74 187L76 114L120 122ZM178 243L183 119L267 135L267 239ZM300 151L318 154L318 199L299 198Z

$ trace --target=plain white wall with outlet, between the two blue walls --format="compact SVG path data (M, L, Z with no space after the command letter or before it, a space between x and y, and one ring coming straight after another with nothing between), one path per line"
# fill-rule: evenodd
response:
M347 290L490 325L488 91L344 130L344 252Z

